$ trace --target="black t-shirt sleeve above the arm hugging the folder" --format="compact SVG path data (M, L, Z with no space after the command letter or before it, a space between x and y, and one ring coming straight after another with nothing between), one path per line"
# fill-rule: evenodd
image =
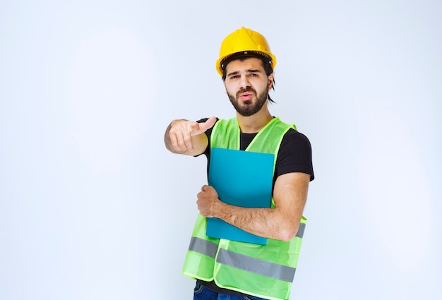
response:
M311 155L310 140L304 134L289 129L285 133L276 158L275 179L287 173L301 172L310 175L310 181L315 178Z

